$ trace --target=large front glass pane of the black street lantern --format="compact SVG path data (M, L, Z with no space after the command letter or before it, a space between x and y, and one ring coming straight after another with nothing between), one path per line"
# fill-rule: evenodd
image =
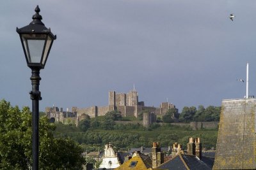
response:
M44 39L28 39L29 59L31 63L40 63L44 50Z

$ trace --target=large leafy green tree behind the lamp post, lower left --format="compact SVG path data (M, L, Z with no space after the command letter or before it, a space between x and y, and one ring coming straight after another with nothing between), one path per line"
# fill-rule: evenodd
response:
M29 169L32 164L32 117L28 107L21 111L0 101L0 169ZM71 139L55 139L56 126L47 117L39 120L39 167L44 169L82 169L80 146Z

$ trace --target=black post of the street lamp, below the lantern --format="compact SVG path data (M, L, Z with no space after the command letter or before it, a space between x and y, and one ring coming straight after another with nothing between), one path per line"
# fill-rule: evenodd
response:
M39 91L40 84L40 69L32 69L31 75L32 91L29 92L32 100L32 125L33 125L33 139L32 139L32 153L33 153L33 170L38 169L39 160L39 101L42 99Z

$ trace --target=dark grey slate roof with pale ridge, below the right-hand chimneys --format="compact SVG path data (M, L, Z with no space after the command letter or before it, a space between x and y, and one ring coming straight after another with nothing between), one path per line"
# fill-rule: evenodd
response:
M191 170L207 170L212 169L214 158L202 157L198 159L195 155L186 155L178 153L173 159L164 162L156 169L191 169Z

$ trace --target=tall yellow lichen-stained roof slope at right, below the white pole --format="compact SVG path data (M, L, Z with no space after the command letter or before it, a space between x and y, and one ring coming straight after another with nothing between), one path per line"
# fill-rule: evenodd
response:
M256 99L223 100L213 169L256 169Z

